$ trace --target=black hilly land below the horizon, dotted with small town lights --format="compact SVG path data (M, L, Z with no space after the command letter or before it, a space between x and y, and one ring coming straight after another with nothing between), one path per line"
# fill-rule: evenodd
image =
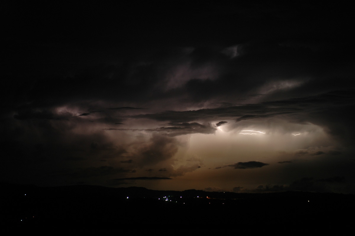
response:
M353 234L353 194L0 186L5 232Z

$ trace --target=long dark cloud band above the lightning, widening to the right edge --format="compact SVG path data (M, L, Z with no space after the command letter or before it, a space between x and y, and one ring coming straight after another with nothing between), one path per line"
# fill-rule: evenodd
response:
M132 117L149 118L157 121L191 122L195 120L265 119L282 116L294 123L311 122L321 125L338 137L355 138L351 126L350 108L355 106L355 93L352 90L334 91L314 96L287 100L268 101L260 104L245 104L223 108L200 109L190 111L164 111L155 114L141 114ZM334 110L334 112L330 112ZM334 119L343 114L342 124ZM334 120L334 121L333 121Z

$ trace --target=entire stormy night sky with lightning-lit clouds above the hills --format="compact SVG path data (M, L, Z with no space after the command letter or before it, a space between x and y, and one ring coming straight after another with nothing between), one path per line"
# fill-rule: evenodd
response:
M1 9L0 181L355 193L350 4Z

